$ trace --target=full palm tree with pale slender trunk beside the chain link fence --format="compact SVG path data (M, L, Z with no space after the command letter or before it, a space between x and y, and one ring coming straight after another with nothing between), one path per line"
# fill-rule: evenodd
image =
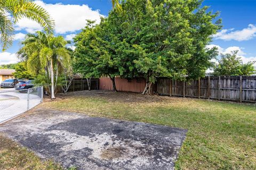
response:
M59 72L70 63L67 43L62 36L54 37L52 34L37 31L35 34L26 36L22 41L23 47L18 52L19 57L27 61L29 71L38 74L44 70L45 75L51 78L52 99L55 98L54 75L57 83Z

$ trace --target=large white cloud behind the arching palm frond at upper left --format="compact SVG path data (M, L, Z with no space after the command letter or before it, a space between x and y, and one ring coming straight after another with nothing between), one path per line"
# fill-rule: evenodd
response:
M36 4L45 8L55 21L56 33L67 33L80 30L85 27L86 20L95 20L96 23L100 22L99 10L92 10L88 5L63 5L46 4L43 1L35 1ZM16 30L26 30L33 33L37 30L42 30L40 25L28 19L21 19L16 25Z

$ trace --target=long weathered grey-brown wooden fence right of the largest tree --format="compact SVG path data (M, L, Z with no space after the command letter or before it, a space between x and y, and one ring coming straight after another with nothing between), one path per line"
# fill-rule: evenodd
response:
M157 91L159 95L255 102L256 77L205 77L186 82L159 78Z

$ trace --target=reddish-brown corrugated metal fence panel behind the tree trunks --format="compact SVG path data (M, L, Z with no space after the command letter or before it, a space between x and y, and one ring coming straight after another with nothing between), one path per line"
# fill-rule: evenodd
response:
M116 83L116 89L118 91L136 92L136 93L142 93L146 86L146 81L143 78L136 78L136 79L115 78L115 83ZM106 78L106 77L100 78L99 89L113 90L113 84L110 78Z

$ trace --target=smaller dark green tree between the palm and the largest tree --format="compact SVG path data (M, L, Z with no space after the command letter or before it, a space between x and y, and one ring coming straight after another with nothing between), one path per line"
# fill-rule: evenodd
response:
M88 25L75 38L75 70L89 80L91 77L108 76L116 90L115 77L119 75L116 51L111 44L111 34L102 19L99 25ZM89 79L88 79L89 78ZM89 81L88 81L89 82Z

